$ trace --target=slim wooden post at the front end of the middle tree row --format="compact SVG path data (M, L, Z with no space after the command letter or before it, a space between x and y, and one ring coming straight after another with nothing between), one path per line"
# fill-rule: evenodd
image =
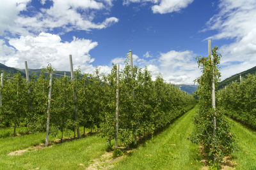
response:
M116 67L116 141L115 141L115 148L118 148L118 117L119 117L119 64Z

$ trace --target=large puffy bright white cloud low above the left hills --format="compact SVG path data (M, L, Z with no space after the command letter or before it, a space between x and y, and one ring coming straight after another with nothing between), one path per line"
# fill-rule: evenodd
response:
M68 55L72 54L74 67L81 66L82 71L92 72L93 58L89 52L97 42L90 39L73 38L71 42L62 42L60 36L42 32L38 36L20 36L9 41L10 46L0 41L5 52L0 56L0 62L11 67L24 68L24 61L28 61L29 68L47 66L47 62L58 70L68 71ZM106 68L102 66L104 71Z

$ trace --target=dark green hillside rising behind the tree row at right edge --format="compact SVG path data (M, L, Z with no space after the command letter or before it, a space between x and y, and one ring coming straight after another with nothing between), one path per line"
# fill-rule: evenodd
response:
M218 85L218 89L222 89L226 85L230 84L232 81L240 81L240 74L243 78L246 78L247 74L255 74L255 73L256 73L256 66L246 71L243 71L241 73L234 74L233 76L230 76L229 78L226 78L225 80L221 81Z

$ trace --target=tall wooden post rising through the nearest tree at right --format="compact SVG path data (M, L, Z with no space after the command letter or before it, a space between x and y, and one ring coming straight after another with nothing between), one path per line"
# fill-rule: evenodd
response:
M214 66L213 63L213 55L211 55L211 39L208 39L208 55L211 57L212 67ZM214 111L216 110L216 101L215 101L215 76L214 76L214 69L212 68L212 108ZM213 134L215 135L216 132L216 112L214 112L213 117Z

